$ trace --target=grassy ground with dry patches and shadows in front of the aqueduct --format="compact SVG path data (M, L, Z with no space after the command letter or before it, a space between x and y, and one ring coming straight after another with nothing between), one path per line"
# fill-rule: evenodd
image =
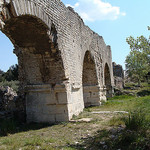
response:
M92 113L99 111L110 113ZM129 113L113 113L113 111ZM0 150L150 149L150 96L116 96L103 106L85 109L73 119L80 118L92 120L53 125L27 125L12 120L7 122L1 120Z

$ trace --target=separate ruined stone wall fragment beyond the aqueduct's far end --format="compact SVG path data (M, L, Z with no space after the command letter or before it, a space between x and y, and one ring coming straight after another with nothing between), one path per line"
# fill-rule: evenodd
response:
M121 65L117 65L113 62L113 75L115 88L124 88L124 71Z

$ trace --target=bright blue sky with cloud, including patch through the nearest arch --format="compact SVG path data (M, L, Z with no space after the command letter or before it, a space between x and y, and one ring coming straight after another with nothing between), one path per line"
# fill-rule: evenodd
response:
M126 38L130 35L149 37L150 0L62 0L74 7L86 25L103 36L111 46L112 59L125 69L125 57L130 49ZM0 32L0 69L7 69L17 63L13 45Z

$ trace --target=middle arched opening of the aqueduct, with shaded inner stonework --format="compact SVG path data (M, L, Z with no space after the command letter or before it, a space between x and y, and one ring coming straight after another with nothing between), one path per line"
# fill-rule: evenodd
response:
M95 62L89 51L85 53L84 57L82 84L85 107L100 105L99 87Z

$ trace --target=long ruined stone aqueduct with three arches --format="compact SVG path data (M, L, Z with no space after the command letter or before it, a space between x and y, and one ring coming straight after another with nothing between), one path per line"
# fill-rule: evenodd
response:
M110 46L60 0L0 0L18 57L27 121L68 121L112 95Z

